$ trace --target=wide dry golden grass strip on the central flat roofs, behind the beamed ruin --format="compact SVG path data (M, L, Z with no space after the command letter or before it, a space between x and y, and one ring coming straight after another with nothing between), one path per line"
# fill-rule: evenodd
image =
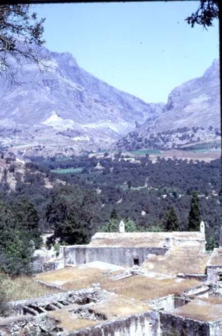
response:
M112 274L107 273L107 271L102 272L96 268L80 269L78 267L42 273L37 276L37 279L47 283L56 283L58 279L65 280L62 286L66 290L89 288L92 283L99 282L100 287L108 292L142 301L168 294L181 293L200 284L197 280L165 279L145 275L131 276L113 281Z

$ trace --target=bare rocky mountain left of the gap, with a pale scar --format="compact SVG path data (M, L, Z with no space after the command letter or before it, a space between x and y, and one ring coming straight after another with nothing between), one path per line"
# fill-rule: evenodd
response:
M8 87L0 79L1 128L19 130L22 142L30 140L25 133L37 140L36 130L40 142L49 128L48 141L62 139L66 145L84 143L96 149L159 115L164 107L163 103L146 104L104 83L81 69L69 53L45 49L45 54L47 70L42 73L30 64L18 72L16 87Z

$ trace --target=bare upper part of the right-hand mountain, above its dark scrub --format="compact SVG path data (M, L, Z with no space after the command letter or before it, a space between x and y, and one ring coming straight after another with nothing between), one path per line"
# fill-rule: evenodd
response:
M214 60L202 77L173 89L159 122L159 131L173 124L182 126L218 127L220 124L219 60Z

